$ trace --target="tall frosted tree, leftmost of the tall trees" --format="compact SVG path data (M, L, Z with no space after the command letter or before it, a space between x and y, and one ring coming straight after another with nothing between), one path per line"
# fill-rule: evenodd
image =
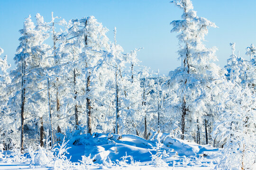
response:
M43 19L37 15L37 22ZM9 100L14 112L20 112L20 148L24 148L24 125L26 120L26 134L30 137L35 135L34 123L38 117L42 117L46 109L46 95L41 93L44 85L41 82L44 77L44 62L48 45L43 44L47 35L42 34L40 28L35 29L31 17L27 17L24 27L19 31L22 36L19 38L20 45L14 57L16 69L12 70L12 86L15 94ZM18 104L18 100L21 104ZM20 107L19 107L20 106ZM18 128L18 127L17 127ZM35 139L31 139L35 140Z

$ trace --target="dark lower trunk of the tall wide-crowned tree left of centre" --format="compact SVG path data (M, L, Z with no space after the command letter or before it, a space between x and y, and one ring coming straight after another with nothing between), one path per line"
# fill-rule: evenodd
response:
M87 133L92 134L91 133L91 101L89 98L89 92L90 92L90 75L91 73L89 72L89 75L87 76L87 83L86 83L86 92L87 92L87 96L86 96L86 110L87 110Z

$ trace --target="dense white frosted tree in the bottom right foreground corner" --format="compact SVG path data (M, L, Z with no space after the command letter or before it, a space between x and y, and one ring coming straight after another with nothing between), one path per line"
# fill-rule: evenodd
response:
M216 170L253 170L256 168L256 97L251 90L231 83L223 97L226 101L215 134L224 143Z

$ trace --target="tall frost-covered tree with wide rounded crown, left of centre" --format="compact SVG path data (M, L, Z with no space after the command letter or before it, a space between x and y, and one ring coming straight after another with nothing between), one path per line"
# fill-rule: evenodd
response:
M105 35L107 31L94 17L75 19L71 22L67 34L68 43L65 45L69 49L65 52L66 59L73 61L72 86L74 89L72 96L68 96L66 100L70 97L74 99L75 125L87 125L87 132L90 134L92 133L92 105L95 103L95 98L100 97L96 89L99 85L98 75L101 73L96 72L95 68L102 60L104 50L109 48L109 39ZM87 113L86 123L84 119L79 120L79 112Z

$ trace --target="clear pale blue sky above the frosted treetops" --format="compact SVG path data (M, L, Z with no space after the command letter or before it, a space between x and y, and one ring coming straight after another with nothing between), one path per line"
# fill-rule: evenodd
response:
M14 66L18 47L18 30L29 14L40 13L50 21L51 12L66 20L94 16L106 26L113 40L117 27L117 41L125 52L144 47L138 53L142 65L168 74L180 65L177 61L178 41L170 33L169 23L180 19L181 9L170 0L0 0L0 47ZM236 42L240 56L246 47L256 44L256 0L192 0L199 17L206 17L219 28L210 28L206 36L208 47L217 46L219 66L223 67L231 54L229 42ZM34 17L33 17L34 18Z

